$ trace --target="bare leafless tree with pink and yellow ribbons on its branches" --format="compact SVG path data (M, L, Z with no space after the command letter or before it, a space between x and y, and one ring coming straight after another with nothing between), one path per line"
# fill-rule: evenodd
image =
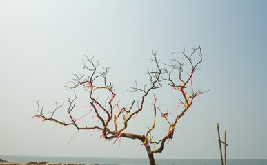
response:
M40 107L39 102L37 102L38 111L33 117L40 118L43 121L48 120L56 122L63 126L75 126L78 131L97 129L101 131L101 138L105 140L115 139L116 142L121 137L140 140L146 148L150 164L155 164L154 154L161 153L164 150L166 141L168 142L168 140L173 138L178 120L192 106L193 100L206 92L194 89L192 86L192 77L199 69L199 64L202 62L201 47L192 48L192 52L189 55L187 55L184 50L182 52L174 52L172 56L177 57L171 58L168 64L160 63L157 59L157 52L152 51L151 62L154 63L155 69L152 71L147 69L150 83L149 85L144 85L144 88L139 88L137 83L134 87L130 87L128 91L141 93L141 98L139 102L133 100L128 108L120 107L119 102L115 102L116 93L114 86L112 83L108 83L107 80L109 68L102 67L99 69L99 62L95 61L94 58L88 58L86 56L85 61L83 61L83 69L87 74L73 74L72 80L66 84L66 87L68 89L82 87L88 91L90 96L90 109L94 112L93 115L95 115L99 122L92 126L81 126L77 122L81 118L84 118L84 116L75 118L75 116L72 115L72 111L75 109L76 105L75 100L77 100L75 91L74 98L68 99L68 122L55 118L55 113L63 107L63 104L58 104L57 102L51 115L46 115L43 107ZM185 70L185 68L188 68L188 70ZM168 89L175 90L179 93L177 107L180 107L181 111L172 119L168 117L170 113L164 113L159 108L157 105L158 98L152 93L163 87L163 85L168 85ZM106 98L108 98L106 102L99 100L99 91L102 92L101 94L103 94L103 91L106 91ZM152 124L148 126L148 131L143 134L128 132L129 121L146 109L144 102L148 100L149 95L153 97L152 116L154 116L154 119L152 120ZM174 110L175 109L173 109L173 111ZM162 135L159 140L154 141L156 138L152 136L152 131L156 126L157 115L168 122L168 130L166 130L166 133ZM154 147L152 148L151 146ZM157 147L155 148L155 146Z

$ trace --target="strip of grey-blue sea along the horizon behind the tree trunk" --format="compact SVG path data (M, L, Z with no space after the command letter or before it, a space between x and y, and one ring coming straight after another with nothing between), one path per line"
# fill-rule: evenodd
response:
M98 165L149 165L148 159L126 158L91 158L91 157L39 157L7 156L0 159L10 162L52 162L63 164L98 164ZM158 165L221 165L219 159L155 159ZM267 165L267 159L228 159L227 165Z

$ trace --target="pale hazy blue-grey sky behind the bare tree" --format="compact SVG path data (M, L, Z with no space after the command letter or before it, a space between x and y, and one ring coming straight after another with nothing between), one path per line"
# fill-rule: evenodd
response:
M266 8L266 1L0 1L0 155L147 157L137 140L119 147L88 131L68 144L75 128L29 119L34 102L51 111L72 97L64 85L81 71L83 55L111 67L122 96L135 80L147 82L151 50L168 61L201 45L194 81L212 92L197 98L155 156L219 159L219 122L228 158L267 159ZM174 99L158 96L166 107Z

